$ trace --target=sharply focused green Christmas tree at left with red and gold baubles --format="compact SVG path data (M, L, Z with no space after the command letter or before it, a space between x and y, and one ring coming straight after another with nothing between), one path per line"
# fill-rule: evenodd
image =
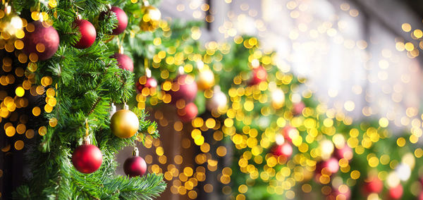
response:
M115 173L123 146L159 137L145 111L126 105L134 82L123 38L141 31L147 3L3 1L0 55L4 75L16 80L4 88L1 123L8 137L35 137L30 176L14 198L152 199L164 191L161 175L143 175L136 148L124 165L129 177Z

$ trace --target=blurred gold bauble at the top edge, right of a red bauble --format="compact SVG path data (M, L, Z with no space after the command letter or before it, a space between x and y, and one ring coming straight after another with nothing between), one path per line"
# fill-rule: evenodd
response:
M161 12L158 8L149 5L148 1L143 2L141 8L142 20L140 21L140 28L143 31L154 31L159 27Z

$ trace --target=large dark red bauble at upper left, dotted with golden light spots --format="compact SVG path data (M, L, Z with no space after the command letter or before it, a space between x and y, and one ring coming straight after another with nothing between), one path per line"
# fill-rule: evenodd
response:
M56 53L59 48L59 42L59 34L54 27L47 25L47 23L35 21L29 23L25 28L23 51L28 56L36 54L39 61L45 61Z

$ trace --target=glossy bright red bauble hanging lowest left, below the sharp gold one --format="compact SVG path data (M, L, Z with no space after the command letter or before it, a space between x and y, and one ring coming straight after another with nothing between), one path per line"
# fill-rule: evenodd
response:
M76 147L72 154L72 163L80 173L93 173L103 162L102 151L92 144L82 144Z

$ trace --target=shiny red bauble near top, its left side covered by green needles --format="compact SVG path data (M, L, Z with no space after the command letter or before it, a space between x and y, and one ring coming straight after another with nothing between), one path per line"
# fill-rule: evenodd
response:
M73 23L81 33L80 40L73 46L78 49L87 49L94 43L97 35L94 26L89 21L81 19L75 20Z

